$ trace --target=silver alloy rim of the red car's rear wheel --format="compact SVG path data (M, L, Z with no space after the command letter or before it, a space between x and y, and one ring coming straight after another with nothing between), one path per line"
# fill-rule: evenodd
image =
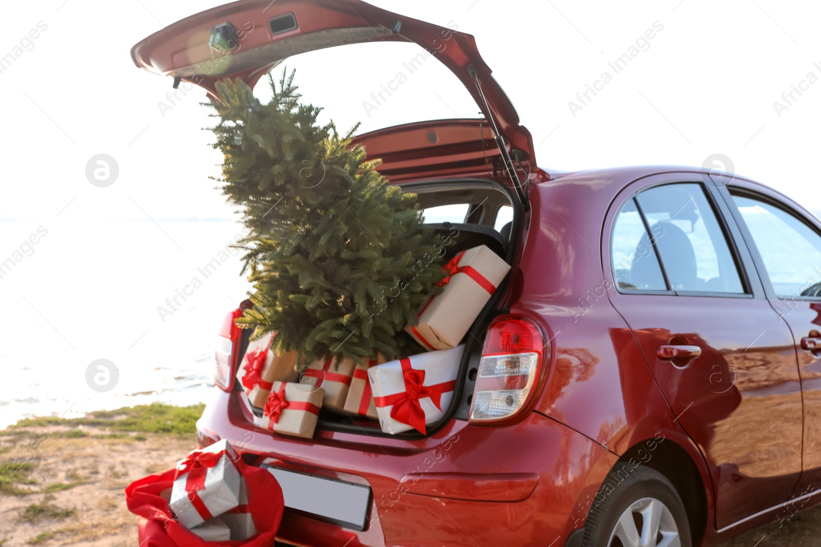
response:
M676 519L658 499L639 499L621 513L608 547L681 547Z

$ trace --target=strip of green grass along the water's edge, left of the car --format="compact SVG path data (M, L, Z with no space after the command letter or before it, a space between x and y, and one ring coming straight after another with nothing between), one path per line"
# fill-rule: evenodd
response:
M65 424L69 426L108 427L112 431L134 431L175 435L193 435L196 422L202 416L204 403L190 407L175 407L164 403L140 404L133 408L123 407L117 410L100 410L89 413L86 417L66 420L56 416L28 418L17 422L12 428L46 427ZM80 430L74 430L80 431ZM82 432L85 436L85 432ZM67 432L69 433L69 432Z

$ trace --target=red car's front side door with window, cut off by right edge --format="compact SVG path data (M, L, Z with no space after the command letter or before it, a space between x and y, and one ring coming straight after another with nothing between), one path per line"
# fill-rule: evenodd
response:
M821 225L760 185L724 191L764 291L792 331L804 392L804 472L794 495L821 490Z

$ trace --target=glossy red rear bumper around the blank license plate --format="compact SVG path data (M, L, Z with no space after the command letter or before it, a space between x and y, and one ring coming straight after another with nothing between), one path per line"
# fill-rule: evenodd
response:
M373 490L364 531L286 514L278 536L296 545L560 547L583 524L578 500L598 489L590 472L609 454L539 413L507 427L454 420L417 441L333 431L297 439L255 426L238 392L214 391L197 423L205 435L259 463Z

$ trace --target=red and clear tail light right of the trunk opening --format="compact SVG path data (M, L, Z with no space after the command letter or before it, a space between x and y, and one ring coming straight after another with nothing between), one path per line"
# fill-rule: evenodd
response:
M508 422L530 408L549 354L542 330L533 321L516 316L493 321L479 361L470 422Z

